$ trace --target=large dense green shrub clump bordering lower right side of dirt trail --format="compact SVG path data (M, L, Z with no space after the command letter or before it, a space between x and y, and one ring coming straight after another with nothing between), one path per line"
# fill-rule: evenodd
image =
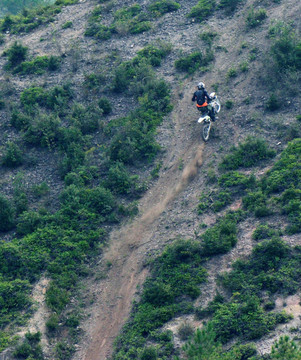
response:
M178 240L152 262L141 300L134 305L133 314L116 341L116 359L129 355L139 359L139 354L148 353L144 350L148 340L160 341L158 356L174 354L173 347L167 347L170 337L165 335L164 342L164 334L160 339L154 338L155 330L175 315L192 312L191 299L199 296L199 284L206 279L200 260L198 242Z

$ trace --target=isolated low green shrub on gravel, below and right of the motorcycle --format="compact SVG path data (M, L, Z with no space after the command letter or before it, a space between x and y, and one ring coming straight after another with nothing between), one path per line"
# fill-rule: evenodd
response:
M263 140L247 137L244 143L231 149L231 154L224 157L220 167L226 170L251 167L275 155L275 151L269 149Z

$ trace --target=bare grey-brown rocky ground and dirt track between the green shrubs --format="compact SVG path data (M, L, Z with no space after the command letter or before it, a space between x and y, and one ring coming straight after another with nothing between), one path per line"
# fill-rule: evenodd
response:
M124 1L122 5L129 5L132 1ZM144 2L141 2L144 4ZM108 359L112 352L115 337L125 323L136 291L147 276L145 263L149 256L154 255L175 238L193 238L202 230L201 223L207 225L215 222L214 214L199 216L196 208L199 197L208 187L208 168L216 169L220 158L231 145L237 144L247 135L265 137L277 150L284 144L279 139L276 131L270 131L260 124L271 122L271 115L263 111L263 102L266 94L258 82L262 71L262 59L268 48L267 29L275 19L293 20L301 31L300 4L296 0L283 0L280 4L265 1L268 19L259 28L247 31L245 29L246 13L250 7L257 6L257 0L249 0L241 5L233 17L225 16L218 11L216 16L208 21L198 24L186 17L196 0L179 1L181 9L176 13L166 14L156 20L153 30L136 36L113 37L109 41L95 41L83 36L87 19L95 7L95 2L86 0L74 6L65 7L54 23L37 31L22 36L8 35L2 51L16 39L22 41L30 48L34 55L53 54L64 55L63 69L59 74L42 76L34 79L35 83L61 84L66 81L82 83L84 75L90 72L101 71L102 59L113 50L118 51L122 59L132 58L138 50L149 43L160 39L173 45L173 51L160 67L159 75L164 77L171 85L174 109L170 116L158 129L158 141L164 151L158 161L163 162L159 179L148 189L139 202L139 215L129 223L112 231L110 241L102 258L95 265L95 276L85 284L86 294L82 296L94 299L93 304L85 309L85 319L81 327L84 335L79 344L74 360ZM116 1L116 6L119 2ZM115 11L114 7L112 11ZM109 21L112 13L108 13L104 21ZM72 19L73 27L62 30L62 25ZM211 71L195 73L193 76L184 76L175 71L174 61L181 53L190 53L192 50L204 50L205 44L200 40L199 34L205 31L214 31L218 37L214 41L215 61ZM40 39L43 41L40 41ZM242 44L247 47L242 47ZM258 50L256 59L249 61L250 50ZM227 79L230 68L238 67L243 61L248 61L249 71L240 73L236 78ZM0 67L4 65L4 58L0 58ZM6 73L0 72L2 83L12 83L16 91L16 98L21 90L32 83L30 76L14 77L8 79ZM218 94L222 102L222 111L219 120L214 124L214 134L208 143L204 144L200 136L200 128L196 122L197 110L191 103L191 96L195 85L204 81L209 91L213 84L218 84ZM247 96L254 96L255 101L246 105L243 100ZM116 107L110 119L124 115L131 106L127 99L111 99ZM234 107L226 110L226 100L234 100ZM288 104L288 109L279 112L279 120L285 119L290 123L300 109L300 99ZM5 128L8 119L1 112L1 124L4 133L0 137L1 145L14 137L10 128ZM108 120L108 121L109 121ZM260 122L260 121L261 122ZM97 141L97 139L95 140ZM39 156L37 171L33 175L30 169L24 169L24 176L32 182L40 183L47 180L53 197L62 188L58 174L52 171L51 161L55 158L43 154ZM1 171L1 190L11 192L10 179L16 174ZM263 173L257 169L258 175ZM240 203L234 206L237 208ZM230 269L231 263L237 257L250 253L253 244L251 234L256 227L256 222L246 221L240 226L239 242L229 254L211 259L208 264L209 279L202 286L202 296L198 299L200 304L206 304L212 299L216 291L215 277L218 273ZM299 236L288 241L301 243ZM111 267L108 270L107 264ZM105 279L99 279L98 274L106 273ZM43 341L47 350L49 344L45 336L43 324L47 318L47 309L43 303L43 289L47 279L39 282L35 293L40 293L37 313L30 322L29 327L39 329L44 333ZM291 327L299 326L301 314L298 306L298 297L279 299L278 306L286 303L295 314ZM186 319L187 320L187 319ZM192 319L188 319L192 321ZM183 319L176 319L168 324L169 328L176 329ZM195 326L199 325L194 323ZM24 329L23 329L24 330ZM262 352L270 349L272 340L286 329L281 327L258 343ZM51 351L48 351L51 358Z

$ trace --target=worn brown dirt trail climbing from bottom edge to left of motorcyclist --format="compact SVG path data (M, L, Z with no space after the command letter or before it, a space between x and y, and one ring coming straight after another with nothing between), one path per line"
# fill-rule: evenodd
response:
M202 165L204 144L196 145L191 138L186 142L183 139L186 135L181 132L187 126L187 117L180 118L179 109L187 106L189 96L180 101L173 113L175 131L180 134L174 137L178 146L173 149L179 151L180 148L180 155L175 155L175 150L167 155L165 165L168 170L140 201L142 215L111 234L110 247L102 261L103 264L109 261L112 268L97 290L93 324L87 328L86 334L89 344L76 353L74 360L105 360L111 355L113 341L129 316L137 286L142 285L147 276L143 263L146 252L155 247L153 236L160 216ZM182 173L178 161L174 160L178 156L187 164Z

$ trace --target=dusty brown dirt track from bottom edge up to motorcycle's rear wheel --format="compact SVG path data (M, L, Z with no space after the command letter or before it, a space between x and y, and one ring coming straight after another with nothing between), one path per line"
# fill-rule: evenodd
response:
M142 269L142 264L145 251L149 248L156 230L156 220L196 175L198 167L202 164L202 152L203 146L199 146L193 159L184 168L180 179L175 178L173 186L173 171L168 173L169 179L161 179L143 199L143 203L148 204L148 210L132 224L112 234L111 246L104 255L104 261L110 261L113 265L108 278L101 286L97 300L97 322L90 335L92 342L87 352L78 354L77 359L104 360L111 354L113 341L130 313L137 286L142 284L147 276L147 270ZM162 194L166 183L169 184L169 190Z

